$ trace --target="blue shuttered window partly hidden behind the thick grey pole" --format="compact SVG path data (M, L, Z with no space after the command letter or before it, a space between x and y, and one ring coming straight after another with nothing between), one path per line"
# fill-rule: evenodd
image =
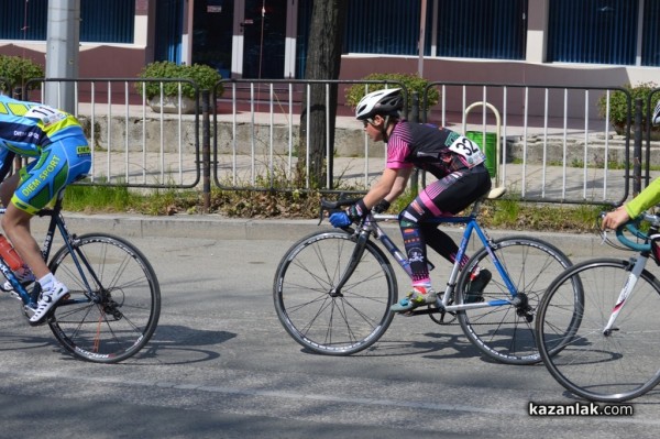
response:
M80 0L80 41L133 43L135 0ZM0 40L46 41L48 0L2 0Z

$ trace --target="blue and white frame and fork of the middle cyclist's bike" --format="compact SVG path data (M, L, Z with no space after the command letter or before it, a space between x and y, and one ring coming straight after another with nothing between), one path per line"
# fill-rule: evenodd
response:
M514 283L510 281L508 273L506 272L506 270L504 268L504 266L497 259L497 255L491 249L492 240L488 237L486 237L485 232L482 230L482 228L479 226L479 222L476 221L476 212L479 211L480 205L481 205L481 201L476 201L474 204L474 207L473 207L470 216L441 217L441 218L429 219L426 221L427 223L439 223L439 224L440 223L465 224L465 231L463 232L463 237L462 237L461 243L459 245L459 253L457 254L455 262L453 264L451 274L447 282L447 287L444 289L444 294L442 295L442 298L438 297L438 299L436 301L437 307L444 311L459 311L459 310L463 310L463 309L487 308L487 307L496 307L496 306L503 306L503 305L516 306L516 305L518 305L518 301L519 301L519 298L517 297L518 292L517 292L516 287L514 286ZM351 276L351 274L353 273L355 266L358 266L358 264L362 257L362 253L364 252L364 246L366 244L366 241L369 240L371 234L373 234L374 238L376 238L378 241L381 241L383 243L383 246L385 246L385 249L389 252L389 254L392 254L392 256L402 266L402 268L404 268L404 271L409 276L411 275L410 264L408 263L407 257L404 255L404 253L402 253L402 251L397 248L397 245L392 241L392 239L387 235L387 233L378 224L378 221L392 221L392 220L398 221L398 217L396 215L373 213L373 215L369 215L366 217L366 219L358 226L358 230L355 231L355 234L358 237L355 251L353 252L353 255L351 257L350 263L348 264L344 275L342 276L341 281L339 282L339 284L337 285L337 287L336 287L334 292L332 292L332 294L336 294L336 295L341 294L340 293L341 287L348 282L348 279ZM460 261L463 259L463 255L465 254L465 251L468 250L468 244L470 243L473 232L476 233L482 245L486 249L486 251L488 252L488 255L493 260L493 264L496 266L497 272L502 276L504 284L506 285L506 287L512 296L510 300L498 299L498 300L490 300L490 301L474 303L474 304L450 305L450 300L452 298L452 293L457 286L457 281L459 278L459 274L461 271Z

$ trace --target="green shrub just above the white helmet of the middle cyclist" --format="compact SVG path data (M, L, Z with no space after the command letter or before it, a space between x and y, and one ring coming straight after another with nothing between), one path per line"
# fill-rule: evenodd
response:
M425 78L421 78L419 75L411 74L371 74L362 78L363 80L386 80L389 83L387 87L385 84L367 84L369 92L382 90L384 88L393 88L398 87L398 83L403 84L404 87L408 90L408 111L410 111L411 105L411 95L414 91L419 94L419 103L422 105L424 100L424 91L429 84L429 81ZM345 98L346 103L351 107L356 107L360 99L362 99L365 95L365 85L364 84L355 84L346 89ZM428 89L427 96L427 109L430 109L440 100L440 92L437 88L432 87Z

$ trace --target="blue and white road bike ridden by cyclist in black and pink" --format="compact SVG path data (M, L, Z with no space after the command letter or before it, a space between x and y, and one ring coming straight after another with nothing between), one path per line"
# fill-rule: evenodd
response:
M494 190L488 198L503 194ZM458 319L465 336L487 356L512 364L536 363L540 361L534 337L536 308L547 286L571 261L535 237L488 238L477 222L482 201L468 216L431 220L464 227L457 261L466 254L473 233L476 250L463 270L458 262L453 264L436 304L409 314L428 315L439 325L454 325ZM353 202L323 200L319 223L324 212ZM311 233L285 253L275 273L273 298L284 328L302 347L348 355L371 347L389 327L394 318L389 307L398 299L398 286L377 242L408 275L410 268L381 226L384 221L398 221L398 217L371 212L354 228ZM465 293L477 266L493 275L483 300L468 298Z

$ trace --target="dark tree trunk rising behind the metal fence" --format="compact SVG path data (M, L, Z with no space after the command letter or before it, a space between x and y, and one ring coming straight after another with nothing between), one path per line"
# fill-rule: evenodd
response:
M348 0L314 0L309 41L307 43L306 79L338 79L341 67L341 53L345 26ZM326 180L324 160L326 132L330 154L334 151L334 124L337 116L336 84L329 88L329 101L326 101L326 85L312 84L309 96L305 96L300 113L300 171L307 167L312 187L323 187ZM306 90L307 91L307 88ZM309 106L308 102L309 101ZM307 113L309 107L309 114ZM326 125L328 118L328 127ZM307 118L309 118L309 140L307 139ZM307 143L309 141L309 143ZM307 153L309 152L309 163ZM330 157L331 158L331 157ZM330 163L330 172L331 172ZM305 175L305 174L302 174Z

